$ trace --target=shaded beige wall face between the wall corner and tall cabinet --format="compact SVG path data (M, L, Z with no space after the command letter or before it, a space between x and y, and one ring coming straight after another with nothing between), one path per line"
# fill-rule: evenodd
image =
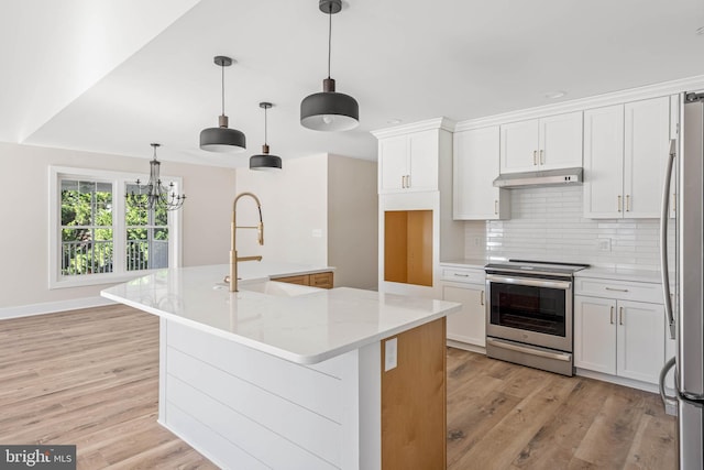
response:
M328 262L336 285L378 287L377 165L330 155L328 160Z

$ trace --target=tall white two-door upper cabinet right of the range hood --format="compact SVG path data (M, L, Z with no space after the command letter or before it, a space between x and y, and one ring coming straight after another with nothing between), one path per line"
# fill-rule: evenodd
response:
M658 218L670 97L584 111L584 217Z

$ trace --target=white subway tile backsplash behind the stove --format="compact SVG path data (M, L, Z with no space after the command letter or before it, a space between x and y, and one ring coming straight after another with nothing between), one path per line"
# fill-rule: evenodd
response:
M660 266L657 219L585 219L581 186L512 189L510 197L509 220L465 222L465 258Z

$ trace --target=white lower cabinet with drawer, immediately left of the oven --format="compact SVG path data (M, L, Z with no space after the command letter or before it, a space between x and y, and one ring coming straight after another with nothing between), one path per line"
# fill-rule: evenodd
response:
M484 270L443 267L442 299L462 304L460 311L448 315L448 339L484 348L486 345Z

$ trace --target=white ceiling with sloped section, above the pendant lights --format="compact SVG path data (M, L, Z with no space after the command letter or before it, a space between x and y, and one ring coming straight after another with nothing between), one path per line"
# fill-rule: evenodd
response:
M704 75L703 0L344 0L332 78L358 129L299 123L322 90L318 0L8 0L0 3L0 141L237 167L264 143L284 160L376 159L375 129L454 121ZM248 150L198 147L226 113ZM546 94L566 95L548 99Z

